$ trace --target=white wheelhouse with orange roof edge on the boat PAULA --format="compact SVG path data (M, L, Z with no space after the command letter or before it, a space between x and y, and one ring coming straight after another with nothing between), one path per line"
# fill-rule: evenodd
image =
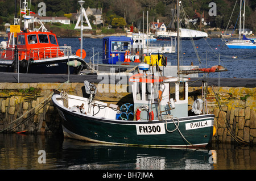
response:
M165 116L188 116L188 78L148 75L139 64L139 74L130 77L136 120L161 120ZM148 66L149 69L149 66ZM143 73L141 72L143 71Z

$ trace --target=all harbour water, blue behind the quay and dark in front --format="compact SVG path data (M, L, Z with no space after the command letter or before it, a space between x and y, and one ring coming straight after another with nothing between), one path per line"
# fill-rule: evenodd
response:
M3 40L0 38L0 41ZM80 48L79 39L59 38L58 41L60 46L71 45L74 53ZM193 62L194 65L205 68L220 62L220 65L228 69L220 73L220 77L255 78L256 51L228 49L223 45L221 39L197 40L194 46L191 41L183 41L181 65L191 65ZM85 59L89 61L93 51L102 52L102 39L84 39L84 49ZM195 49L199 53L201 64L194 53ZM166 56L171 65L177 65L176 53ZM218 76L218 73L209 75ZM255 170L256 146L220 143L211 144L206 149L139 148L92 144L56 134L44 136L1 133L0 170L6 169Z

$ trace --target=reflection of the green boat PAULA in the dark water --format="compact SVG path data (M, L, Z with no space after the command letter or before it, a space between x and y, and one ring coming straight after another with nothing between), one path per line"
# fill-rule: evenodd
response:
M69 154L74 151L76 154ZM71 164L68 169L214 169L207 149L142 148L64 139L63 153L65 162ZM72 164L72 160L77 162Z

